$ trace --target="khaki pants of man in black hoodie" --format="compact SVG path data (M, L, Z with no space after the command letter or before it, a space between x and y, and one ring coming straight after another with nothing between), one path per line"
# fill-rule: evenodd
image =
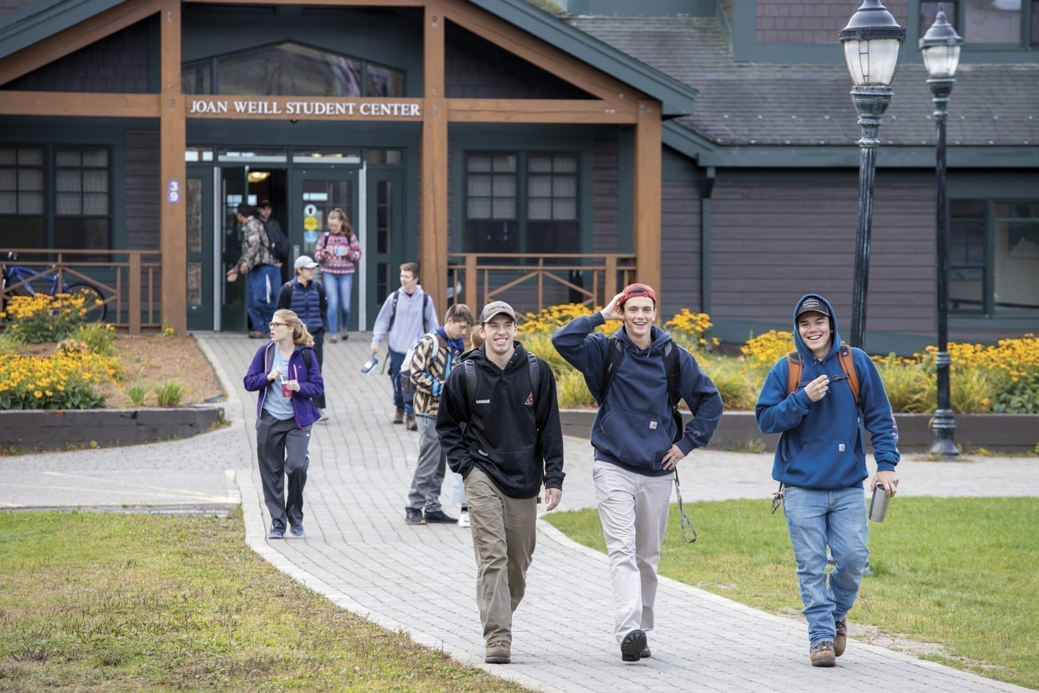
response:
M465 477L483 638L512 642L512 612L527 589L537 538L537 498L509 498L479 469Z

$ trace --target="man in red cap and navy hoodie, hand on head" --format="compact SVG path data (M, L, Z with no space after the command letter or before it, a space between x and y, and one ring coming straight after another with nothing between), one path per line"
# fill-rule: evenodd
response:
M576 318L552 336L556 350L584 374L598 399L604 363L614 344L594 330L607 320L624 322L613 335L623 346L623 357L591 427L592 478L609 551L614 636L624 662L651 655L646 631L654 628L657 564L673 470L708 444L722 411L714 382L686 349L654 326L656 319L656 292L632 284L602 312ZM668 401L666 348L677 350L678 394L693 412L684 432L676 430Z

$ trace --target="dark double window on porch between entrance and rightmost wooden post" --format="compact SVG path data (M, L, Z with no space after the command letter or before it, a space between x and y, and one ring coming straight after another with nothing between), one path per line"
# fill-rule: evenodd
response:
M467 252L579 252L578 156L465 157Z

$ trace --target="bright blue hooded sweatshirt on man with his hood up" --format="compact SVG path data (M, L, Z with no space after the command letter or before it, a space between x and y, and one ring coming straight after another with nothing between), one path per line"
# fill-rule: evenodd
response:
M863 427L872 436L878 471L894 471L899 463L899 429L876 366L864 351L853 348L861 411L855 406L851 388L840 379L844 371L837 355L841 337L833 306L819 294L806 294L795 304L795 313L809 296L818 298L830 312L832 343L825 358L816 358L801 340L795 315L794 343L801 354L801 382L826 373L831 377L829 391L818 402L812 402L803 389L787 394L789 364L783 355L769 371L757 398L754 408L757 426L763 433L782 434L772 467L772 478L776 481L820 490L861 486L869 476Z

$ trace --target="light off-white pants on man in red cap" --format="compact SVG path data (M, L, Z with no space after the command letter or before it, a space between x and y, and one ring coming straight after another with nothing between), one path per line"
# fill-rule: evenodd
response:
M591 474L609 552L613 630L619 644L635 629L652 630L672 477L647 477L602 460L595 460Z

